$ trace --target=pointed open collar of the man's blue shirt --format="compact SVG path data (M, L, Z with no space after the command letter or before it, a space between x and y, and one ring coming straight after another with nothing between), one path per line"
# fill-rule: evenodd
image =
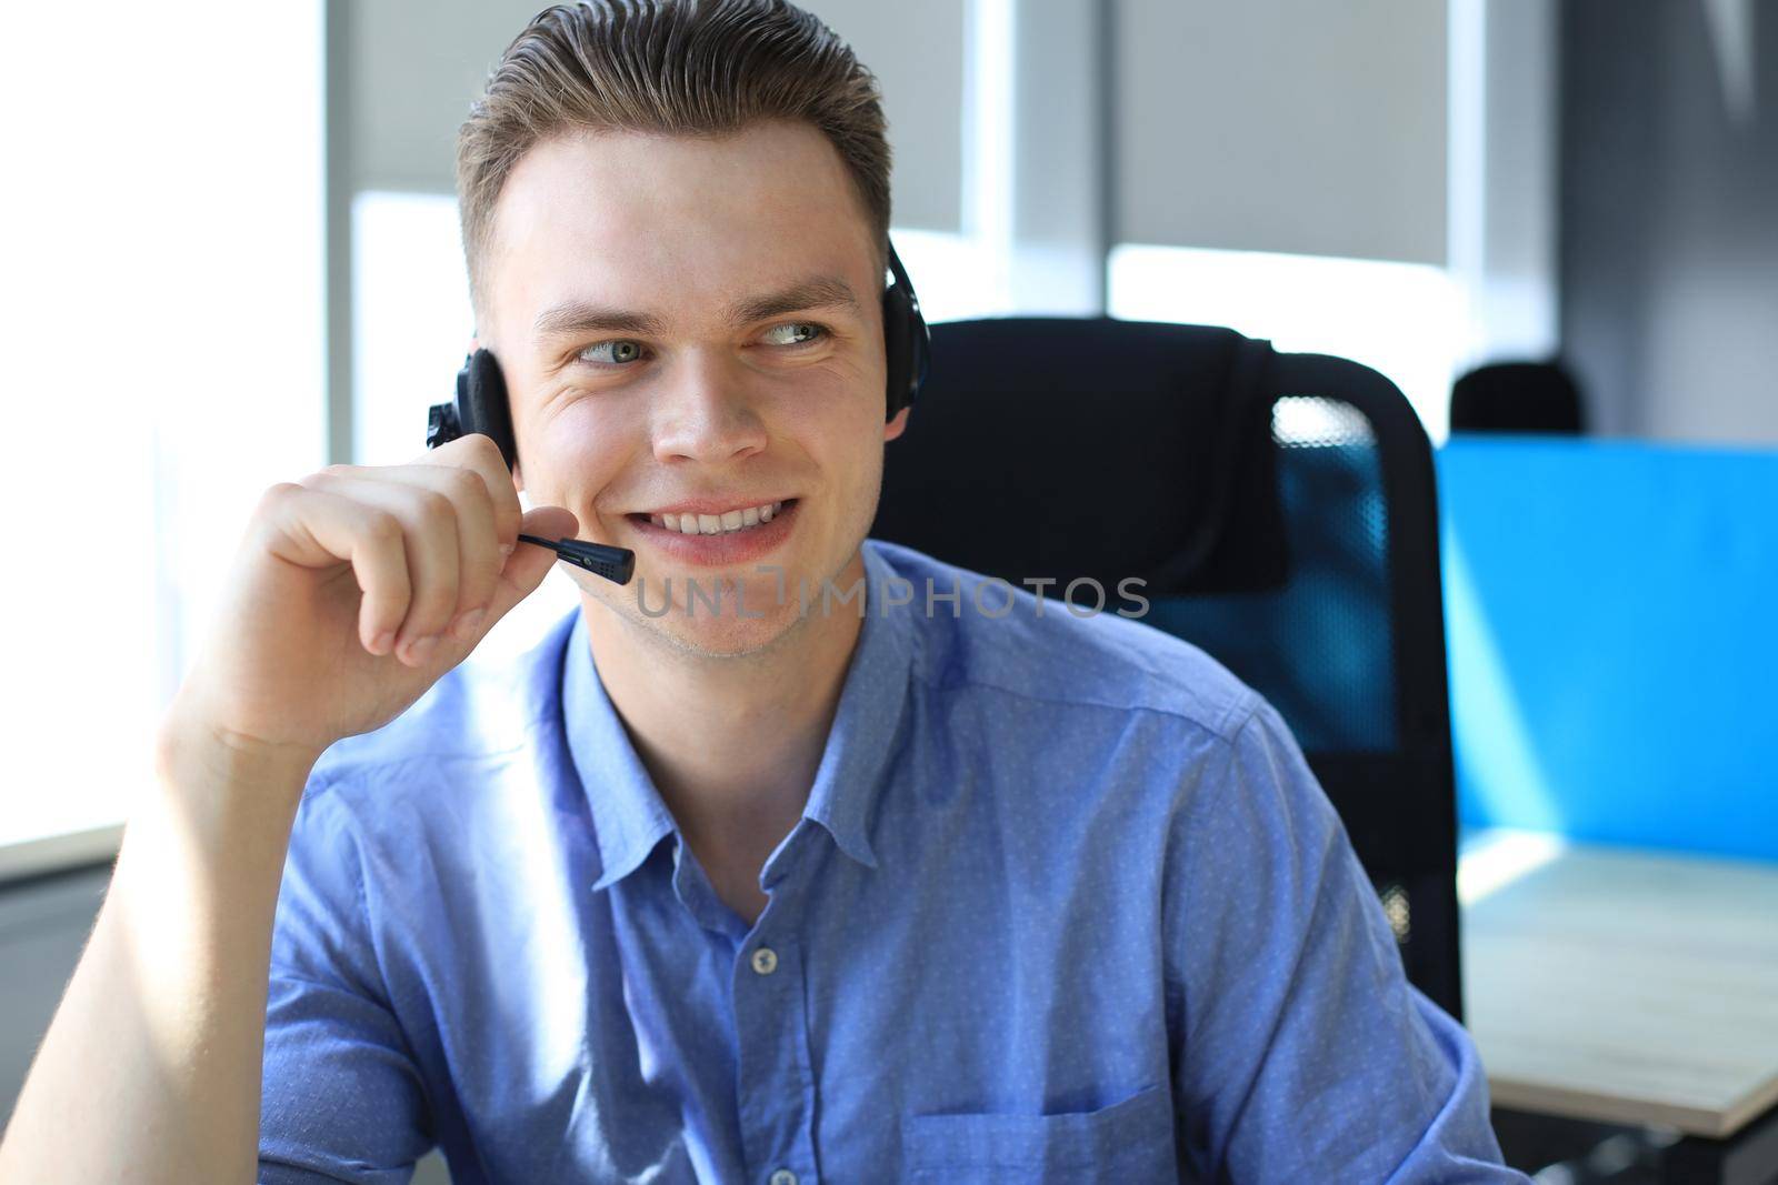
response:
M869 821L907 711L912 611L923 602L914 597L889 604L880 592L884 581L901 577L871 540L864 540L861 551L868 581L864 622L802 817L820 823L841 851L875 869ZM809 611L820 613L820 597L811 593ZM855 609L836 602L832 611ZM569 753L592 810L601 862L597 890L637 871L676 824L599 679L585 609L576 609L562 672L562 714Z

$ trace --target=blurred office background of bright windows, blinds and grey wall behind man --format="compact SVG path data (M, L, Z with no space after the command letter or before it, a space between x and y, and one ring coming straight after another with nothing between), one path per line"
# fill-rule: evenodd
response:
M260 490L420 451L471 332L455 128L537 7L0 16L0 878L110 856ZM882 80L933 320L1229 325L1380 370L1435 446L1456 377L1559 357L1597 437L1778 444L1769 2L807 7ZM0 904L0 1114L91 920L92 883L36 885Z

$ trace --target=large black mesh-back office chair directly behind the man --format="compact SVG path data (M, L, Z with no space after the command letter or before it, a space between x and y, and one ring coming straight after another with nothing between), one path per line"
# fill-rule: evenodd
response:
M1291 725L1408 979L1462 1018L1433 462L1394 384L1229 329L951 322L884 467L875 538L1013 585L1149 581L1143 620Z

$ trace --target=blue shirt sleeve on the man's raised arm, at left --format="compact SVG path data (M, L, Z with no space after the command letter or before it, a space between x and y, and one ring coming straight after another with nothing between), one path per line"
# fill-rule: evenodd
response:
M272 931L261 1185L396 1185L430 1151L425 1084L382 990L361 849L334 787L297 810Z

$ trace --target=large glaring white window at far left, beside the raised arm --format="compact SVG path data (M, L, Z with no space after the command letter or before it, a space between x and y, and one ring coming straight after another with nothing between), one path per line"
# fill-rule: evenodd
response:
M0 11L0 85L37 112L0 190L9 872L126 817L260 492L324 448L322 5L76 32L69 57L68 11Z

